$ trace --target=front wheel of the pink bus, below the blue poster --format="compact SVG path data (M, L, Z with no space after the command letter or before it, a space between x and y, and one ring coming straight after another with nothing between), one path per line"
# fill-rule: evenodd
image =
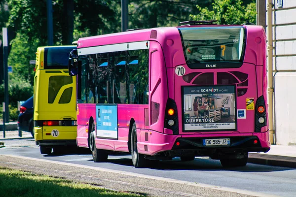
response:
M93 156L93 160L95 163L97 162L107 162L108 160L108 154L106 151L101 150L101 149L97 149L96 148L96 144L95 144L95 138L96 138L96 134L95 134L95 123L93 123L92 125L92 132L90 133L90 150Z

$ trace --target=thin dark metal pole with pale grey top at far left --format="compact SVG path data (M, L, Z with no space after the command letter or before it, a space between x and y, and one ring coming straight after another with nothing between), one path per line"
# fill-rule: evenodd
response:
M8 66L7 66L7 59L8 59L8 39L7 39L7 28L2 28L2 37L3 37L3 73L4 73L4 114L3 114L3 122L5 117L5 122L9 122L9 109L8 109Z

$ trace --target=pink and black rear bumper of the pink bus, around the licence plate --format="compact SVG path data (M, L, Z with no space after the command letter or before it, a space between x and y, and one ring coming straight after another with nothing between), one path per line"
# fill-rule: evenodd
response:
M147 131L143 131L147 132ZM142 132L141 132L142 133ZM145 133L142 135L144 136ZM235 154L241 152L267 152L270 150L268 132L260 133L228 133L228 134L194 134L194 135L167 135L152 132L148 142L137 143L138 151L144 155L180 157L185 155L209 156ZM230 145L206 146L203 139L229 138ZM141 136L142 139L142 136ZM143 137L143 139L145 139ZM255 143L254 140L257 140ZM177 142L179 142L177 145Z

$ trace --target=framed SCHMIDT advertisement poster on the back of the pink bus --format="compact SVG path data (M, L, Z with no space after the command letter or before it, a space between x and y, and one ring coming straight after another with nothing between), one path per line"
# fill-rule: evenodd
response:
M184 131L236 129L235 86L184 86Z

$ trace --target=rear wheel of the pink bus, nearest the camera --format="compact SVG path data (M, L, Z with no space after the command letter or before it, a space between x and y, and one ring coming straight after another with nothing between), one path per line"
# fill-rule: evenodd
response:
M144 155L138 153L137 148L137 128L136 123L134 123L131 132L131 153L132 153L132 161L136 168L144 167L146 164L146 159Z

